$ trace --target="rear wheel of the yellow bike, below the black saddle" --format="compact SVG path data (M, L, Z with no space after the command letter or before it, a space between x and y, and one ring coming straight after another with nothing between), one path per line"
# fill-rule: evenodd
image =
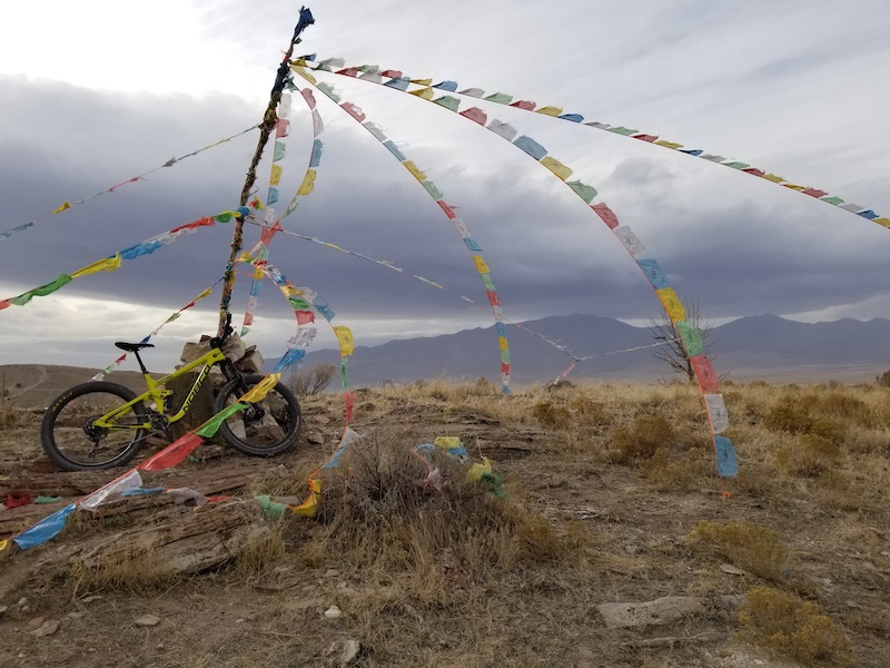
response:
M40 444L66 471L111 469L130 461L141 448L147 420L141 402L118 415L113 426L96 421L136 399L129 387L117 383L90 382L62 392L43 414Z

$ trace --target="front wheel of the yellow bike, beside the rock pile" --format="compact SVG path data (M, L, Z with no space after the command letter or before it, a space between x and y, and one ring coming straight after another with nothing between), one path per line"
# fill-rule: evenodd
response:
M261 375L246 375L229 381L216 396L217 413L236 403L263 381ZM222 440L251 456L273 456L293 448L301 425L299 403L284 383L273 387L265 399L248 404L247 410L230 415L217 432Z

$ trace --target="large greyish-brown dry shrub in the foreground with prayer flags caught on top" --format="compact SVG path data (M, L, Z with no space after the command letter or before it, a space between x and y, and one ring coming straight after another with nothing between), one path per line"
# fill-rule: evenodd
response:
M306 562L342 561L369 580L399 578L409 593L445 605L454 586L493 570L583 554L561 531L510 499L465 481L466 465L442 455L441 491L411 452L412 432L376 430L355 442L322 482L323 531Z

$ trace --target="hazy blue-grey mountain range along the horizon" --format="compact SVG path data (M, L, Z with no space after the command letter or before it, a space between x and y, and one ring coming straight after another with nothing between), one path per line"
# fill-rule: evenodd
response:
M654 382L675 377L654 357L655 340L649 327L576 314L528 321L521 327L507 325L506 333L514 383L554 380L573 362L557 345L584 358L575 364L570 380ZM718 373L739 381L868 382L890 367L890 320L801 323L775 315L742 317L712 327L706 353ZM309 353L304 366L320 363L339 364L337 351ZM353 385L421 379L475 381L481 376L497 383L500 366L494 325L357 346L348 360Z

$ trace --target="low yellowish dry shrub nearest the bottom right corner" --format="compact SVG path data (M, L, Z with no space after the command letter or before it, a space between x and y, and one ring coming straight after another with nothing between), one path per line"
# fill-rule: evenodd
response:
M755 587L739 610L741 633L805 666L851 666L850 641L813 603L770 587Z

